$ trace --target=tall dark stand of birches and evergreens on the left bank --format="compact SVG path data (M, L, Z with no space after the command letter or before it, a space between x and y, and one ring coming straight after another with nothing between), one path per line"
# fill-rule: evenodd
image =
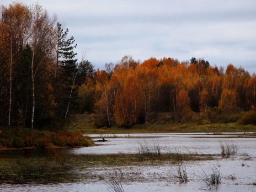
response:
M2 5L0 13L0 124L62 123L93 65L77 62L74 37L41 5Z

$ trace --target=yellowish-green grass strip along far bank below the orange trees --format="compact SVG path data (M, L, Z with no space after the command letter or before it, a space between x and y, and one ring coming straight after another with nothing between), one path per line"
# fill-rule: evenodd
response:
M113 137L119 133L224 133L224 132L256 132L256 125L238 125L236 123L213 123L213 124L175 124L173 122L165 123L147 123L134 125L131 128L118 127L113 125L111 128L96 128L90 115L75 115L71 123L65 127L76 133L83 134L113 134Z

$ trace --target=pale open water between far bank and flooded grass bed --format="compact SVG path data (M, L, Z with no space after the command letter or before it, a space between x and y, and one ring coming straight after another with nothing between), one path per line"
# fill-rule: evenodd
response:
M162 149L176 152L189 153L197 151L198 154L219 154L219 141L225 140L235 142L240 153L256 155L256 138L233 138L240 133L224 133L221 135L210 135L206 133L153 133L153 134L117 134L118 138L107 138L108 142L96 142L100 135L89 135L96 137L96 144L100 146L72 149L68 153L74 154L135 154L138 153L139 143L159 144ZM128 137L127 137L128 136ZM163 151L164 152L164 151Z

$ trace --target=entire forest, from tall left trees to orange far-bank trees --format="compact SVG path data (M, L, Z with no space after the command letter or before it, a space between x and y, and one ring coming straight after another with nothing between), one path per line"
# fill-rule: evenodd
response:
M124 56L94 69L86 55L76 59L75 38L41 5L13 3L0 12L2 126L55 130L76 113L91 114L96 127L127 128L236 122L247 111L256 117L256 75L242 67Z

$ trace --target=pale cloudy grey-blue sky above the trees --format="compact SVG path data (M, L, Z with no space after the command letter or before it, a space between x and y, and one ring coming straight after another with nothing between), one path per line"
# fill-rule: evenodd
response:
M12 0L1 0L9 5ZM256 0L23 0L69 28L77 59L95 68L124 55L144 61L192 57L256 72Z

